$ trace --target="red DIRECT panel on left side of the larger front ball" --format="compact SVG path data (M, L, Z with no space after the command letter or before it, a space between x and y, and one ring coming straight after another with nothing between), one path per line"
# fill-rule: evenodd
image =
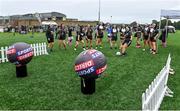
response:
M93 60L89 60L87 62L83 62L81 64L75 65L75 71L83 70L91 66L94 66Z

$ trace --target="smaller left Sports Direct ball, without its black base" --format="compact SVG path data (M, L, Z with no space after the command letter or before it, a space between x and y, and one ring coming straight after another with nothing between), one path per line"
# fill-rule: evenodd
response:
M18 42L9 47L7 58L15 65L26 65L33 58L33 48L24 42Z

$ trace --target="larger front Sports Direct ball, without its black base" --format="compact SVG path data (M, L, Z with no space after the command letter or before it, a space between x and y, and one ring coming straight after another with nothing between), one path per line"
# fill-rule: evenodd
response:
M97 50L85 50L76 60L74 69L82 78L98 78L107 68L104 54Z

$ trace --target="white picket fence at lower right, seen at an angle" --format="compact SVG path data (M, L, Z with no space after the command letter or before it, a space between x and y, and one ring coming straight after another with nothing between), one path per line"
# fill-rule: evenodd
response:
M174 74L170 68L171 56L169 54L166 65L153 80L149 88L142 94L142 110L157 111L165 96L173 97L173 92L168 88L169 74Z

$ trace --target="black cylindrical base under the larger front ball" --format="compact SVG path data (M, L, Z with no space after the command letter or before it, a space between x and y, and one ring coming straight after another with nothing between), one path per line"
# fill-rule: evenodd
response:
M94 78L84 79L81 78L81 92L83 94L93 94L96 90L96 80Z

